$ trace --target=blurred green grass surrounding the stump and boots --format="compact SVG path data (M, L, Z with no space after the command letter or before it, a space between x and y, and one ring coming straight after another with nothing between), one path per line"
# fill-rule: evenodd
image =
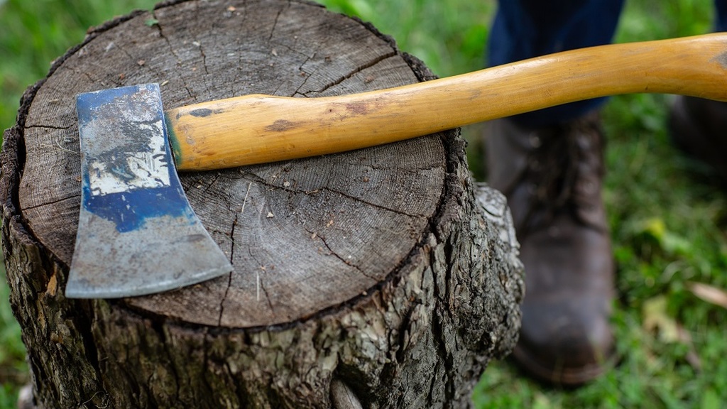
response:
M325 0L332 9L371 21L400 47L449 76L482 68L492 0ZM89 26L145 0L0 0L0 129L15 122L25 87L53 59L84 38ZM616 41L704 33L709 0L627 0ZM604 196L618 265L614 327L620 362L575 390L550 389L512 362L486 370L478 408L721 408L727 402L727 310L697 298L690 282L727 288L727 196L700 164L669 143L672 97L613 98ZM478 127L465 129L477 144ZM470 152L478 177L482 163ZM20 330L0 285L0 408L15 407L27 381Z

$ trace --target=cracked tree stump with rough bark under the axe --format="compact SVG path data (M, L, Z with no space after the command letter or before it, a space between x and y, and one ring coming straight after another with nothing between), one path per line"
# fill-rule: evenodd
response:
M79 92L158 82L171 108L431 78L371 25L307 1L172 1L89 31L4 134L3 250L33 404L469 407L487 362L515 343L523 281L505 199L473 183L458 130L186 173L232 274L122 300L63 295Z

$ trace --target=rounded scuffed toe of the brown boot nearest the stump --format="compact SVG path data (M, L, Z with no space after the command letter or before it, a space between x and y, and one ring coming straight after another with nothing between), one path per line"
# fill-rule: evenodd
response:
M514 356L542 380L577 386L600 376L614 349L611 245L570 218L553 226L522 243L527 293Z

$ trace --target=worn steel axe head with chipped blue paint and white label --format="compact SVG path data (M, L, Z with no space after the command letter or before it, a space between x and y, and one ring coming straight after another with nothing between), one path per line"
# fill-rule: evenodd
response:
M227 274L182 190L157 84L81 94L81 212L69 298L118 298Z

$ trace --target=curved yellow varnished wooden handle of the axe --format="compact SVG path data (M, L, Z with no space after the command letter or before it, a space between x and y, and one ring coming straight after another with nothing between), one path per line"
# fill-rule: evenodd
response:
M206 170L350 151L634 92L727 100L727 34L577 49L360 94L246 95L165 116L177 169Z

